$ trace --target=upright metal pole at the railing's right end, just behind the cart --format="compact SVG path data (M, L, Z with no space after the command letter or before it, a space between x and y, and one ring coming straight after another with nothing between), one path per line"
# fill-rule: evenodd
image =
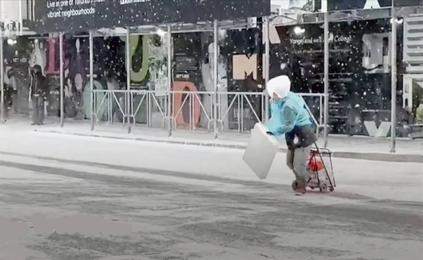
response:
M324 147L328 146L329 119L329 13L324 13ZM321 108L320 108L321 109Z

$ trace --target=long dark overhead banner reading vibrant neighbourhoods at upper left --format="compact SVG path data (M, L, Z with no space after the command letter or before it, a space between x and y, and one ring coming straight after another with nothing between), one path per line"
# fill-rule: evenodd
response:
M39 33L270 15L270 0L37 0L35 3Z

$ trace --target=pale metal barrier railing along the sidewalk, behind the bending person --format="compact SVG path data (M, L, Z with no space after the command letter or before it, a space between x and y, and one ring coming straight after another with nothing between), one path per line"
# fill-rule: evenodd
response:
M243 133L251 130L255 123L266 121L265 99L269 97L266 97L264 92L218 92L216 95L214 92L172 91L170 95L170 98L169 93L158 97L154 90L95 89L92 117L97 125L102 122L112 125L121 121L123 126L128 125L129 131L131 125L134 128L137 125L165 128L168 122L171 123L172 129L204 129L212 132L212 125L216 123L218 132L235 130ZM315 113L315 105L312 110L306 106L319 133L324 127L324 94L300 95L305 98L306 103L309 98L319 98L318 114ZM169 100L172 106L168 106ZM312 104L316 102L313 101ZM214 106L217 106L216 116ZM168 107L171 107L171 113Z

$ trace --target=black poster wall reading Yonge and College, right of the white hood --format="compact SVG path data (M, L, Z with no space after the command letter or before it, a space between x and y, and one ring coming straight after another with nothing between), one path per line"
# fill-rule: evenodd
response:
M332 133L373 136L373 130L389 120L389 28L389 19L329 24L329 124ZM293 79L294 92L324 93L323 27L302 25L301 29L275 27L277 37L272 37L271 41L270 78L289 75ZM400 37L402 32L398 31L398 43ZM402 47L396 51L398 73L401 73ZM398 87L401 85L399 79ZM319 98L305 97L305 101L318 120L322 109ZM398 115L401 113L398 109Z

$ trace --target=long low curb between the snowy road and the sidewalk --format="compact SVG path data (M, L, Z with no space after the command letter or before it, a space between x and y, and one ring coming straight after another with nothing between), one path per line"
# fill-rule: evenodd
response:
M178 141L178 140L164 140L164 139L148 139L142 137L128 138L128 137L114 137L109 135L98 135L98 134L78 134L75 132L59 132L54 130L49 131L39 131L35 132L49 133L56 135L75 135L80 137L97 137L97 138L108 138L114 140L133 140L140 142L158 142L162 144L186 144L186 145L196 145L200 147L216 147L216 148L229 148L229 149L246 149L247 145L245 144L216 144L209 142L195 142L195 141ZM286 152L288 149L281 148L281 152ZM396 163L423 163L423 155L419 154L388 154L388 153L359 153L351 151L333 151L333 158L343 158L343 159L360 159L367 161L391 161Z

